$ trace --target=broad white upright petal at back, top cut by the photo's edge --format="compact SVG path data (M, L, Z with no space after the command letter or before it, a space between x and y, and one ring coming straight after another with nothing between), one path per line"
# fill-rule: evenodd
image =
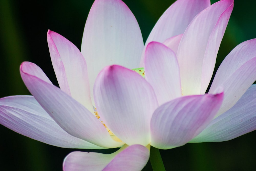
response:
M81 48L88 63L90 87L107 65L138 68L143 46L137 20L121 0L96 0L86 21Z

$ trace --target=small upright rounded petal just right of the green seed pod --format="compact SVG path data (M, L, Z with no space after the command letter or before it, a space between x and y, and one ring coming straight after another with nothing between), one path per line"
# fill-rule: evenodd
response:
M159 105L182 95L176 55L162 43L147 45L145 78L154 88Z

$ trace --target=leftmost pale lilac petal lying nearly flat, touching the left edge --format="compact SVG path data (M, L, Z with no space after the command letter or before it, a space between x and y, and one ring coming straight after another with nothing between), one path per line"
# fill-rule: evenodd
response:
M64 131L33 96L0 99L0 123L29 138L64 148L103 149Z

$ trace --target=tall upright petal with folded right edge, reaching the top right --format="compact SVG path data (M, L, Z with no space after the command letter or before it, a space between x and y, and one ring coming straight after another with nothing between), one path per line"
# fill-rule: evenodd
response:
M177 58L184 95L204 94L210 82L233 0L222 0L199 13L183 34Z

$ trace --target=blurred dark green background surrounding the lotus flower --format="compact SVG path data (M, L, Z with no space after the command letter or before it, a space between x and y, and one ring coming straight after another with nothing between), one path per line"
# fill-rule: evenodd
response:
M124 2L137 18L145 41L158 18L174 1ZM92 0L0 0L0 97L29 94L19 74L23 61L36 63L58 85L50 61L47 30L60 33L80 49L92 3ZM256 1L235 1L216 66L236 45L256 38L255 7ZM254 170L255 135L256 132L251 132L227 142L186 144L160 152L166 170ZM0 139L0 170L62 170L64 157L76 150L32 140L2 125ZM110 153L111 150L102 152ZM150 169L148 163L145 170Z

